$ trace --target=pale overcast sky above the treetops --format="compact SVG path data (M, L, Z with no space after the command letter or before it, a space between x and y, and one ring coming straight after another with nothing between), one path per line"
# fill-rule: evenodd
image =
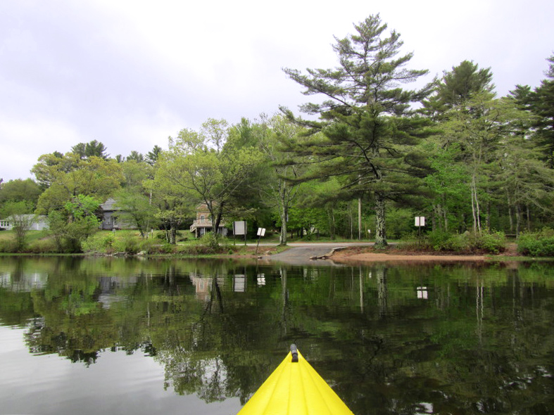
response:
M80 142L147 153L210 117L296 111L282 68L334 67L333 36L377 13L426 81L473 60L503 96L554 53L551 0L0 0L0 178Z

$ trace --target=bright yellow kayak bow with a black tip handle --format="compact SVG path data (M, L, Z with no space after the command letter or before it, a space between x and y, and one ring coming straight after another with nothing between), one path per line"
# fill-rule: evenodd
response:
M295 345L237 415L353 415Z

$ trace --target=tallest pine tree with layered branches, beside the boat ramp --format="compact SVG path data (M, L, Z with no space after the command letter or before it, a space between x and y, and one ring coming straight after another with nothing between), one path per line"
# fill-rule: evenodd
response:
M422 158L414 152L417 139L424 136L427 120L417 117L410 106L429 94L429 87L407 90L401 84L413 82L427 70L405 68L413 53L397 56L403 41L400 34L386 35L386 24L371 15L356 33L336 39L333 48L339 67L284 71L306 87L306 95L325 96L327 101L308 103L301 109L319 115L317 122L298 120L325 139L313 139L292 148L311 155L320 170L311 178L345 177L344 190L352 197L370 192L376 213L375 244L386 245L387 198L417 189L413 179L423 175ZM293 115L283 109L289 117Z

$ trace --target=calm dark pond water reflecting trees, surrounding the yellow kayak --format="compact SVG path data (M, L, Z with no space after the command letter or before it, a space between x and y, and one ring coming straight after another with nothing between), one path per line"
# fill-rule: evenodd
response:
M233 415L291 343L355 415L553 414L554 267L0 258L0 414Z

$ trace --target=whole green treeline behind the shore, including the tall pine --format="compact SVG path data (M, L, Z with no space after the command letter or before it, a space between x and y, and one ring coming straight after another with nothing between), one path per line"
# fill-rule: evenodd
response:
M551 226L554 54L538 87L518 84L507 96L496 95L491 68L471 60L410 89L428 71L410 69L398 32L379 15L354 28L332 46L335 68L284 69L313 97L301 114L210 118L146 155L110 157L99 141L44 154L36 180L1 184L0 217L47 215L61 250L94 233L108 198L143 236L165 229L170 243L199 203L215 229L246 219L279 229L282 244L297 232L371 235L384 247L413 234L415 216L443 234Z

